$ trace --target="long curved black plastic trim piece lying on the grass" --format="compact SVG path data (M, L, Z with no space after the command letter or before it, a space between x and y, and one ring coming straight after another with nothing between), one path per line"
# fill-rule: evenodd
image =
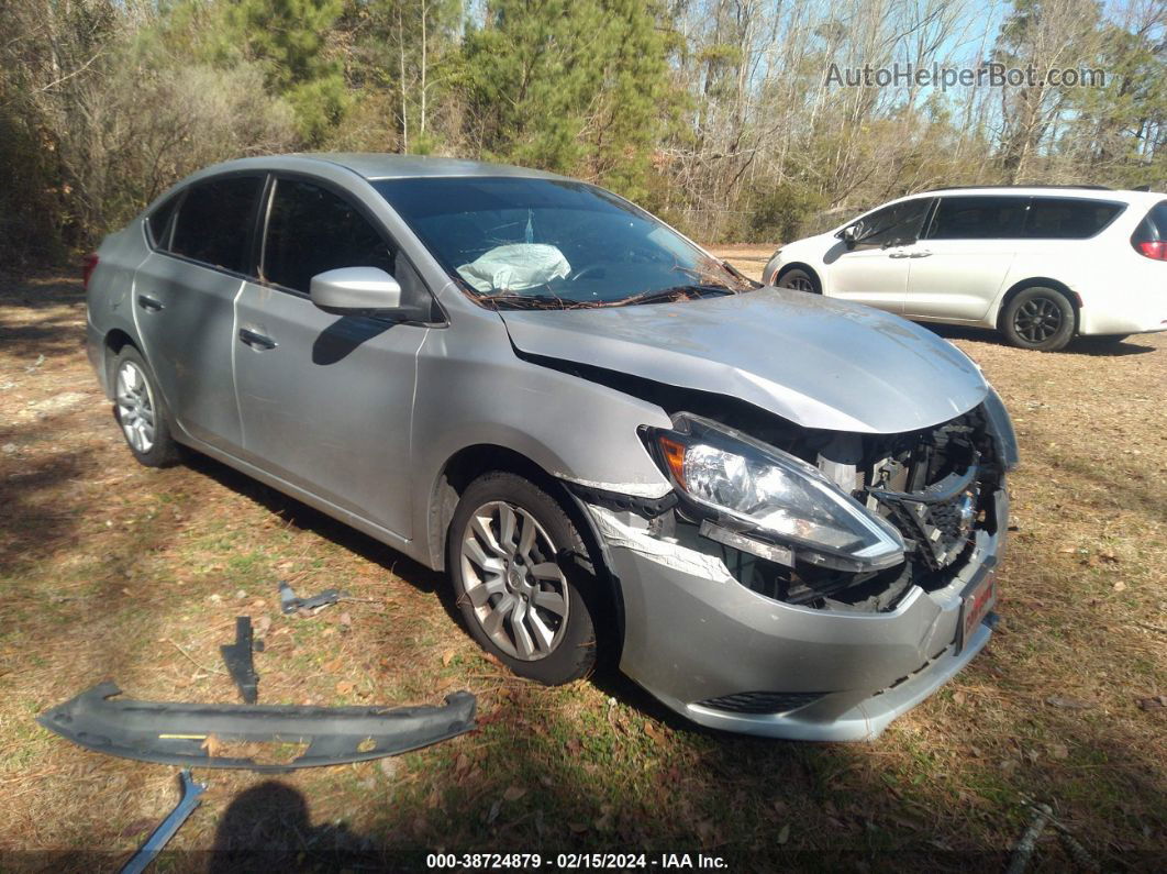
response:
M380 758L448 740L474 728L476 700L454 692L442 707L300 707L112 700L99 683L36 721L86 749L144 762L281 772ZM307 743L291 762L216 756L219 743Z

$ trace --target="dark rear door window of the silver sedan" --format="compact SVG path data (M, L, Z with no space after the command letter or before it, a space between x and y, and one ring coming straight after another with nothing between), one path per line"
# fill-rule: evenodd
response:
M264 180L229 176L198 182L179 208L170 251L212 267L251 273L251 229Z

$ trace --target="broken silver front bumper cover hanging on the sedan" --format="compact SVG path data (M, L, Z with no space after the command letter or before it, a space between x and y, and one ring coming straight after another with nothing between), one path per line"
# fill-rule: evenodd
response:
M997 499L1005 531L1005 492ZM791 740L871 740L991 636L985 622L959 639L962 595L993 573L1001 546L1000 536L986 531L977 532L971 558L944 588L913 587L887 613L838 611L760 595L710 555L591 510L623 595L621 669L705 726Z

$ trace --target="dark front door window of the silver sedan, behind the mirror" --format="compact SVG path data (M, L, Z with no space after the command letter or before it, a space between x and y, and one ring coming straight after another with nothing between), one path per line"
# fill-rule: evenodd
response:
M275 182L263 279L308 293L314 275L337 267L380 267L396 277L393 250L356 208L331 191L300 180Z

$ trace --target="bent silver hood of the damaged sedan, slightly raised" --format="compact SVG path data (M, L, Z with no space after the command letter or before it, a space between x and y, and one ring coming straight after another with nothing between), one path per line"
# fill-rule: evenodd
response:
M499 315L519 352L729 394L809 428L914 431L988 391L977 365L931 331L783 288Z

